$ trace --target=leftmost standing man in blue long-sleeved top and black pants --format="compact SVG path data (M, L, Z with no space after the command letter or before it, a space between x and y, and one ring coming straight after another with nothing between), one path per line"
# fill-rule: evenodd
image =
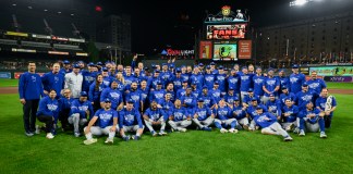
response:
M28 62L28 72L19 80L20 102L23 104L23 122L26 136L33 136L36 128L36 113L40 95L44 97L41 79L36 74L36 63Z

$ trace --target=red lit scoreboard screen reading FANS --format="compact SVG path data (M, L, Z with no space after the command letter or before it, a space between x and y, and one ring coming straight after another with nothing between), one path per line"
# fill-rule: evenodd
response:
M243 39L246 24L207 25L206 39Z

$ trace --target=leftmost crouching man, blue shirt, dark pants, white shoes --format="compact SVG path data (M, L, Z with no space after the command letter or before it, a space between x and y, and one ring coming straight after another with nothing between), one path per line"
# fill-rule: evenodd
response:
M57 91L51 89L49 95L41 98L39 101L39 109L37 112L37 117L39 122L46 123L47 138L52 139L54 135L51 133L53 130L54 120L59 116L59 102L56 99ZM39 127L38 127L39 129Z

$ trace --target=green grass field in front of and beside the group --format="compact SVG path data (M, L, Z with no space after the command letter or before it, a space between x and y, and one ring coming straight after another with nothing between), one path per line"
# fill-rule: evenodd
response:
M353 173L353 96L336 95L339 109L328 138L318 133L279 136L241 130L172 133L139 141L104 138L92 146L84 137L45 133L26 137L17 95L0 95L0 173ZM38 122L37 122L38 123Z

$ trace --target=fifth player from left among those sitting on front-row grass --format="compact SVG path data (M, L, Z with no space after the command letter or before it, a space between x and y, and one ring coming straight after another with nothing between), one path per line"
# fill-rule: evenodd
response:
M193 110L194 116L193 122L202 129L210 132L212 130L209 125L211 125L215 121L215 115L212 111L204 105L204 99L199 98L197 100L197 107Z

